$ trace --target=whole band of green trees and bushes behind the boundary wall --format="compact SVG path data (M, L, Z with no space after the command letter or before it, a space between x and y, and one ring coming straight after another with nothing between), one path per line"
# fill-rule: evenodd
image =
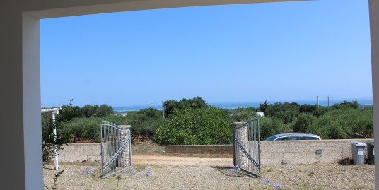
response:
M165 145L230 144L233 122L260 117L260 138L276 133L315 133L325 139L373 138L373 108L361 109L358 102L341 102L331 107L298 105L296 102L263 102L260 107L222 109L202 97L168 100L162 111L154 108L113 114L109 105L63 105L56 117L57 136L52 136L51 116L42 114L44 153L49 155L54 139L62 143L100 142L100 123L131 125L132 138L151 138Z

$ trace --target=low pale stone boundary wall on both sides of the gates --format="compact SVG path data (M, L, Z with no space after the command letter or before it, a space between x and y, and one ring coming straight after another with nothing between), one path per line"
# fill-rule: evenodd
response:
M373 142L373 139L322 141L261 141L262 165L299 165L337 163L351 158L351 141ZM59 151L59 162L101 162L100 143L72 143ZM166 146L166 153L223 154L233 156L232 145ZM132 152L133 153L133 152ZM367 155L367 148L366 148Z

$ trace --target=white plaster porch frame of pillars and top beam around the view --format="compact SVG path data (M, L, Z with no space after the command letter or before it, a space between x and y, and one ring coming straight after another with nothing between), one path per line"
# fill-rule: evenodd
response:
M43 189L40 155L39 19L150 8L271 2L272 0L1 0L1 189ZM288 1L288 0L277 0ZM379 3L369 0L373 102L379 102ZM49 10L48 10L49 9ZM26 13L30 11L29 13ZM374 128L379 114L374 107ZM375 136L379 131L375 130ZM11 144L11 146L8 146ZM378 147L375 148L378 150ZM379 151L379 150L378 150ZM376 158L379 159L379 158ZM377 160L378 161L378 160ZM379 170L375 170L379 177ZM378 178L377 178L378 179ZM378 182L378 180L376 180ZM377 184L378 185L378 184Z

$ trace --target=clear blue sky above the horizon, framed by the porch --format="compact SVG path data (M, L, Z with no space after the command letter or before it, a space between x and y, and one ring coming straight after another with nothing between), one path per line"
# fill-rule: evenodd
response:
M166 8L40 26L44 107L372 97L368 1Z

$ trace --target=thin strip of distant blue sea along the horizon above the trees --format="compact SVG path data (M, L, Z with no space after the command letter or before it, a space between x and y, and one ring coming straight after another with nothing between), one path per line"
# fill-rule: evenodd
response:
M364 106L372 106L373 99L372 98L330 98L329 105L332 106L334 104L339 104L344 101L357 101L361 107ZM317 99L315 100L297 100L297 101L269 101L267 100L267 104L274 104L275 102L297 102L299 105L317 105ZM214 107L221 107L223 109L235 109L238 107L260 107L261 102L207 102L209 105L213 105ZM320 106L328 106L328 100L325 98L320 98L318 100ZM154 103L149 105L134 105L134 106L112 106L115 112L129 112L129 111L138 111L140 109L146 109L149 107L153 107L158 110L162 110L162 103Z

